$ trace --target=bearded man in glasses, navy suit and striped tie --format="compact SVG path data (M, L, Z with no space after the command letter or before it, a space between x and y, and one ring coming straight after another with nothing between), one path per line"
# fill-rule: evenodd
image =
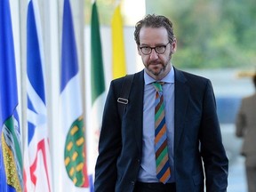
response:
M140 20L134 38L145 69L134 75L124 115L116 101L124 77L110 84L95 191L199 192L204 182L209 192L226 191L228 158L211 82L172 66L177 41L164 16Z

